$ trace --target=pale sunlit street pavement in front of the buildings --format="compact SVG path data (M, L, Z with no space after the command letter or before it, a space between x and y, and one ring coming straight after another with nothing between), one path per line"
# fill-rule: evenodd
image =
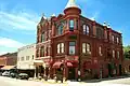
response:
M67 84L49 84L43 82L24 81L0 76L0 86L130 86L130 77L96 83L68 82Z

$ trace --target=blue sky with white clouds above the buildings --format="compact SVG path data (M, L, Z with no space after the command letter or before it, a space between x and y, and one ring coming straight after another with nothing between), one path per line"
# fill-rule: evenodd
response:
M68 0L0 0L0 55L36 43L36 30L42 14L63 13ZM122 33L130 44L130 0L76 0L82 15L106 22Z

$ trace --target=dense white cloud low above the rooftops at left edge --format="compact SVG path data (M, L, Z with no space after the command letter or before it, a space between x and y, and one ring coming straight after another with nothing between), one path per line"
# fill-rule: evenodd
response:
M24 46L24 44L13 39L0 37L0 46L18 48Z

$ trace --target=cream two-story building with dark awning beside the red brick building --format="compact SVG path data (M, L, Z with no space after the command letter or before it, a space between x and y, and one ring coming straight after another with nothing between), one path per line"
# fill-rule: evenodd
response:
M30 76L35 74L34 59L36 57L36 44L23 46L17 52L17 69L18 72L28 73Z

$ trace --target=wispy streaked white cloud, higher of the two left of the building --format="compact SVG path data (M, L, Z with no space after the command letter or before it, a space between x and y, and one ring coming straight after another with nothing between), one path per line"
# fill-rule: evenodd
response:
M0 11L0 29L36 30L39 16L27 12Z

